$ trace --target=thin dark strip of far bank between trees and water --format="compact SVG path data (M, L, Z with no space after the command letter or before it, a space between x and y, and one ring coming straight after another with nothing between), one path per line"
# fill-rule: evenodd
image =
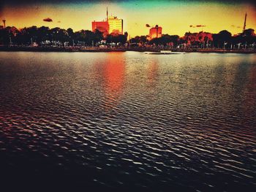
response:
M30 52L160 52L171 50L186 53L256 53L256 50L228 50L218 48L161 48L161 47L31 47L31 46L0 46L0 51L30 51Z

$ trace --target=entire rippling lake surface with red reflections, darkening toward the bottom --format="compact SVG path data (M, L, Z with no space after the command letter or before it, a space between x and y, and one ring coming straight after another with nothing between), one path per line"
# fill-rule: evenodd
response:
M7 188L256 188L256 55L2 52L0 104Z

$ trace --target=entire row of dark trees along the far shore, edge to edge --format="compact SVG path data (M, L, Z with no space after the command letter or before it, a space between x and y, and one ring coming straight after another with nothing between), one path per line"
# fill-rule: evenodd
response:
M103 37L100 31L80 30L72 28L37 28L6 27L0 28L0 45L33 45L33 46L135 46L135 47L173 47L173 48L224 48L224 49L255 49L255 30L246 29L243 33L234 35L223 30L218 34L200 31L199 33L186 33L184 37L163 34L162 37L150 39L148 36L137 36L127 41L127 32L124 35L109 34Z

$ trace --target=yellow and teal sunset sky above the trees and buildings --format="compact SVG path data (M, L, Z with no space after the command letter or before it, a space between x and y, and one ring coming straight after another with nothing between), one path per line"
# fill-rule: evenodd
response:
M178 1L178 0L4 0L0 19L17 28L48 26L91 30L91 21L109 15L124 20L124 31L131 37L147 35L150 26L162 26L162 34L184 36L188 31L241 33L247 12L246 28L256 30L256 5L253 1ZM44 21L47 20L47 21ZM49 22L52 20L51 22ZM200 26L200 27L196 27Z

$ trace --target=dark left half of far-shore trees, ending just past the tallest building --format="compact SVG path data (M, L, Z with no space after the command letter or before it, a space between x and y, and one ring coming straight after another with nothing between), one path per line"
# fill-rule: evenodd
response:
M97 46L102 40L104 43L115 43L124 45L128 34L109 34L103 37L102 32L96 30L73 31L72 28L48 28L45 26L37 28L6 27L0 29L0 45L38 45L38 46Z

